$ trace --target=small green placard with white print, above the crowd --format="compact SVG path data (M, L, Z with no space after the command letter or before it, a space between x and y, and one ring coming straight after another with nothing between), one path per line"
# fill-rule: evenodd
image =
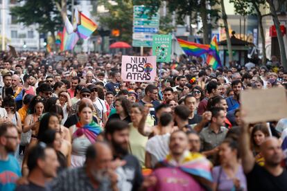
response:
M171 62L171 35L153 35L153 55L157 62Z

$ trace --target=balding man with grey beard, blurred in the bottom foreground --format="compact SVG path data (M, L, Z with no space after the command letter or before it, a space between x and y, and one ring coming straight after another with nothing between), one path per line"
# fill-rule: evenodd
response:
M54 191L118 190L118 176L113 170L112 150L103 142L96 142L87 148L83 167L62 172L49 187Z

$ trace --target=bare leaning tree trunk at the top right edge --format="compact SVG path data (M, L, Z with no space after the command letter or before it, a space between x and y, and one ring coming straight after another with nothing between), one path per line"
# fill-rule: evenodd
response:
M279 1L279 0L278 0ZM284 46L284 39L283 39L283 35L281 33L280 30L280 22L277 16L277 12L275 10L275 6L273 3L273 0L267 0L269 6L270 6L270 12L272 15L272 19L276 28L276 32L277 32L277 39L278 39L278 43L279 43L279 49L280 49L280 57L281 57L281 64L284 67L284 70L287 71L287 59L286 59L286 52L285 52L285 46ZM283 4L283 1L279 1L281 3L281 5Z

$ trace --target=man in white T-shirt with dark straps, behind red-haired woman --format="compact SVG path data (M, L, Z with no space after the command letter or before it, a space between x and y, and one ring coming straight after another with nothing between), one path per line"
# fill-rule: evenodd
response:
M107 122L107 107L105 106L105 101L98 98L98 92L103 91L103 89L96 87L94 84L90 84L87 88L91 91L91 100L96 104L96 108L100 111L99 117L103 122L103 125ZM103 93L103 92L102 92Z

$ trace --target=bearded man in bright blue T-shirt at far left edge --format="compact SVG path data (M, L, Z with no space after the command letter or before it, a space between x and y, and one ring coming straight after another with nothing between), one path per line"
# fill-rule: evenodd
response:
M2 122L0 125L0 190L14 190L21 176L19 163L14 153L19 144L15 125Z

